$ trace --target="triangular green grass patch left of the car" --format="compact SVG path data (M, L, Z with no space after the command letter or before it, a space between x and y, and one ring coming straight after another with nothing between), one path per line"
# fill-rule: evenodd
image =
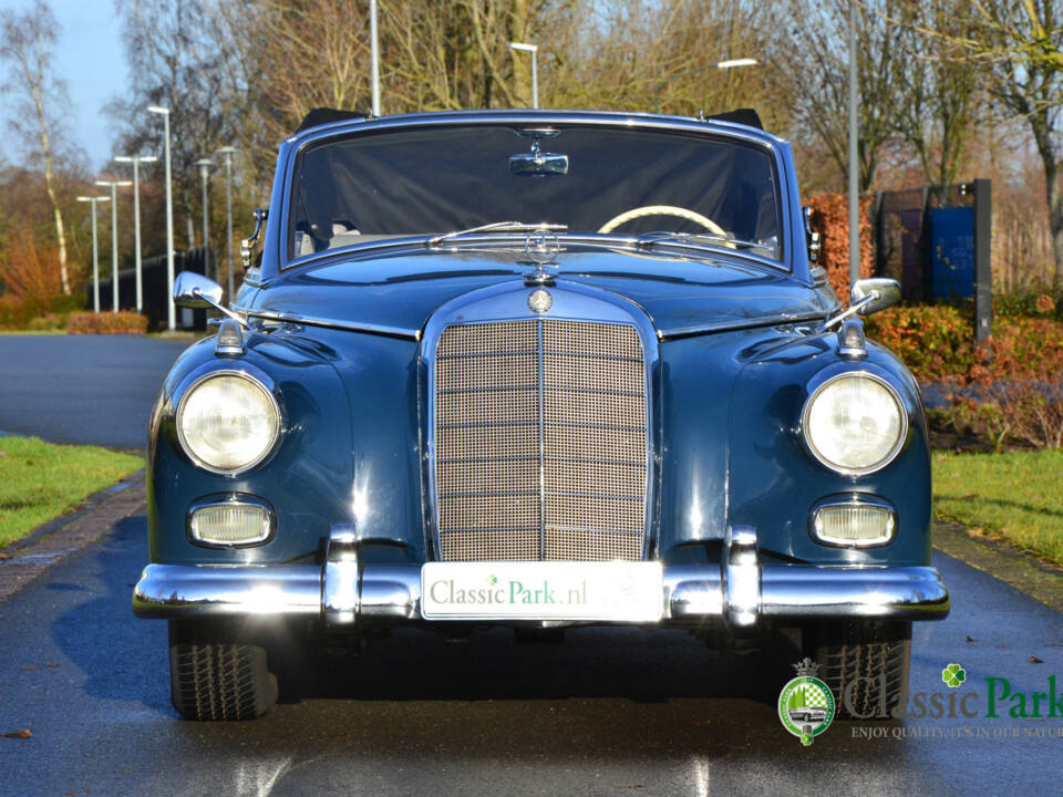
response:
M99 446L0 437L0 548L143 466Z

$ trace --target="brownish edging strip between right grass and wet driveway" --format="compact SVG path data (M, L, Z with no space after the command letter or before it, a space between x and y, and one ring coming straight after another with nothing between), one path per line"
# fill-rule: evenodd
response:
M1063 570L1042 562L1008 542L974 537L962 526L933 521L933 547L976 570L1063 613Z

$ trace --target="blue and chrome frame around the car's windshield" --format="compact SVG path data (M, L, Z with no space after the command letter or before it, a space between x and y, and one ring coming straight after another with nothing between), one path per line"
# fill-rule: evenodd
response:
M540 125L559 125L565 127L584 128L612 128L612 130L632 130L638 128L646 132L675 133L682 136L703 138L705 141L715 141L724 144L753 145L764 151L770 158L773 177L776 183L776 213L778 218L778 258L770 258L756 255L742 248L732 249L721 246L713 246L704 242L698 247L683 242L681 247L685 253L696 259L696 251L703 250L709 256L724 253L730 257L739 257L744 260L751 260L762 266L766 266L775 271L793 273L793 218L791 214L791 192L788 185L789 173L783 154L777 146L778 139L774 136L762 133L743 125L730 123L703 122L692 118L658 116L652 114L623 114L613 112L513 112L513 111L479 111L479 112L460 112L460 113L436 113L417 114L409 116L393 116L383 118L367 118L361 122L342 122L332 125L307 131L307 133L292 136L286 143L291 145L285 165L282 208L280 214L280 224L277 230L277 263L280 272L290 271L310 263L324 259L334 259L337 257L359 257L359 255L370 255L379 252L381 256L393 252L395 249L425 248L425 241L437 237L450 230L438 230L425 232L419 236L394 237L383 240L367 241L364 244L352 244L336 249L327 249L309 255L298 257L290 256L290 240L292 235L293 215L292 208L298 189L296 175L302 162L302 156L308 148L327 143L336 138L357 138L370 135L386 134L388 128L411 130L411 128L453 128L453 127L524 127ZM279 175L278 175L279 176ZM509 234L512 236L512 234ZM598 236L596 232L571 232L560 234L558 236L561 247L565 248L566 235L571 235L572 247L579 248L587 246L588 237ZM506 236L500 235L499 238ZM603 246L612 248L625 248L622 241L632 240L637 236L603 234L600 236ZM523 237L522 237L523 239ZM582 242L580 242L582 239ZM669 240L667 236L662 240ZM450 247L438 247L436 250L445 250L451 247L462 246L463 236L457 236L447 241ZM499 241L502 242L502 241ZM637 248L633 247L632 248ZM432 250L426 248L426 250ZM360 258L359 258L360 259Z

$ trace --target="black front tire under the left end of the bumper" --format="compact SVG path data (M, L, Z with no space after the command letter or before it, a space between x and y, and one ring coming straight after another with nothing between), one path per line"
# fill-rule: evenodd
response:
M231 627L171 621L171 697L182 717L255 720L277 702L266 649L238 636Z

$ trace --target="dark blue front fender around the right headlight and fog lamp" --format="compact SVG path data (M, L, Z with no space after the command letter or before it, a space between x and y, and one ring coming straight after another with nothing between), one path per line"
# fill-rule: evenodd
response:
M918 386L887 349L868 342L867 356L844 359L833 333L792 341L755 354L734 385L729 435L731 525L757 529L764 556L819 565L918 566L930 561L930 453ZM801 432L809 382L866 371L897 389L908 412L908 436L897 457L866 476L835 473L813 458ZM808 516L822 498L861 493L897 511L892 542L836 548L816 542Z

